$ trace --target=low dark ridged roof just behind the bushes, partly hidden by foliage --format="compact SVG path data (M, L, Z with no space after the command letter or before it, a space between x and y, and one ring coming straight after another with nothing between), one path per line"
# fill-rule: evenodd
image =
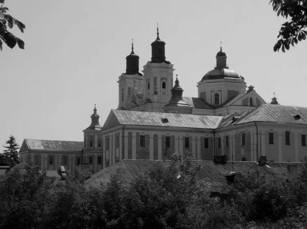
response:
M165 163L169 163L166 161ZM158 163L163 161L156 160L127 160L124 159L116 165L100 170L93 174L90 179L85 181L86 187L105 187L110 182L111 177L120 173L124 184L130 184L139 175L144 175ZM201 166L196 176L198 181L207 180L210 184L211 192L227 193L228 183L226 175L232 171L247 174L248 172L256 172L259 170L260 176L265 176L268 181L276 179L287 179L288 165L300 165L296 162L269 162L267 165L259 166L256 162L228 162L226 164L217 164L213 161L192 161L192 166Z

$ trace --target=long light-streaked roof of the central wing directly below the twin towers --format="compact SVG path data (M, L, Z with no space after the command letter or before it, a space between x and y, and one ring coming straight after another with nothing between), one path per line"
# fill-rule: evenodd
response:
M143 111L112 110L120 124L149 125L149 126L174 126L197 129L214 129L222 117L211 115L173 114ZM162 122L167 118L168 122Z

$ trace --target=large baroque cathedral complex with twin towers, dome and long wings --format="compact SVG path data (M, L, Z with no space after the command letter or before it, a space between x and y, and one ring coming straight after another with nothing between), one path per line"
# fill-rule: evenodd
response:
M25 139L20 161L42 168L64 166L75 174L84 163L89 173L123 159L164 160L190 152L194 160L298 162L307 155L307 108L282 106L274 96L261 98L245 78L230 69L222 46L214 69L197 83L198 97L183 94L165 42L151 43L151 61L139 70L134 46L119 77L118 108L99 123L96 106L83 142ZM225 156L226 157L226 156Z

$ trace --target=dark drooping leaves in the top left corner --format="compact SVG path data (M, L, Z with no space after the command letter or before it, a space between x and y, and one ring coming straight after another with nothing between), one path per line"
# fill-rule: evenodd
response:
M4 4L4 0L0 0L0 4ZM10 29L13 28L14 24L19 28L23 33L26 28L25 24L21 21L18 21L11 15L7 14L9 9L7 7L0 7L0 49L2 50L2 44L6 43L10 48L15 47L18 44L19 48L25 49L25 42L20 38L16 37L14 34L10 33L7 30L7 24Z

